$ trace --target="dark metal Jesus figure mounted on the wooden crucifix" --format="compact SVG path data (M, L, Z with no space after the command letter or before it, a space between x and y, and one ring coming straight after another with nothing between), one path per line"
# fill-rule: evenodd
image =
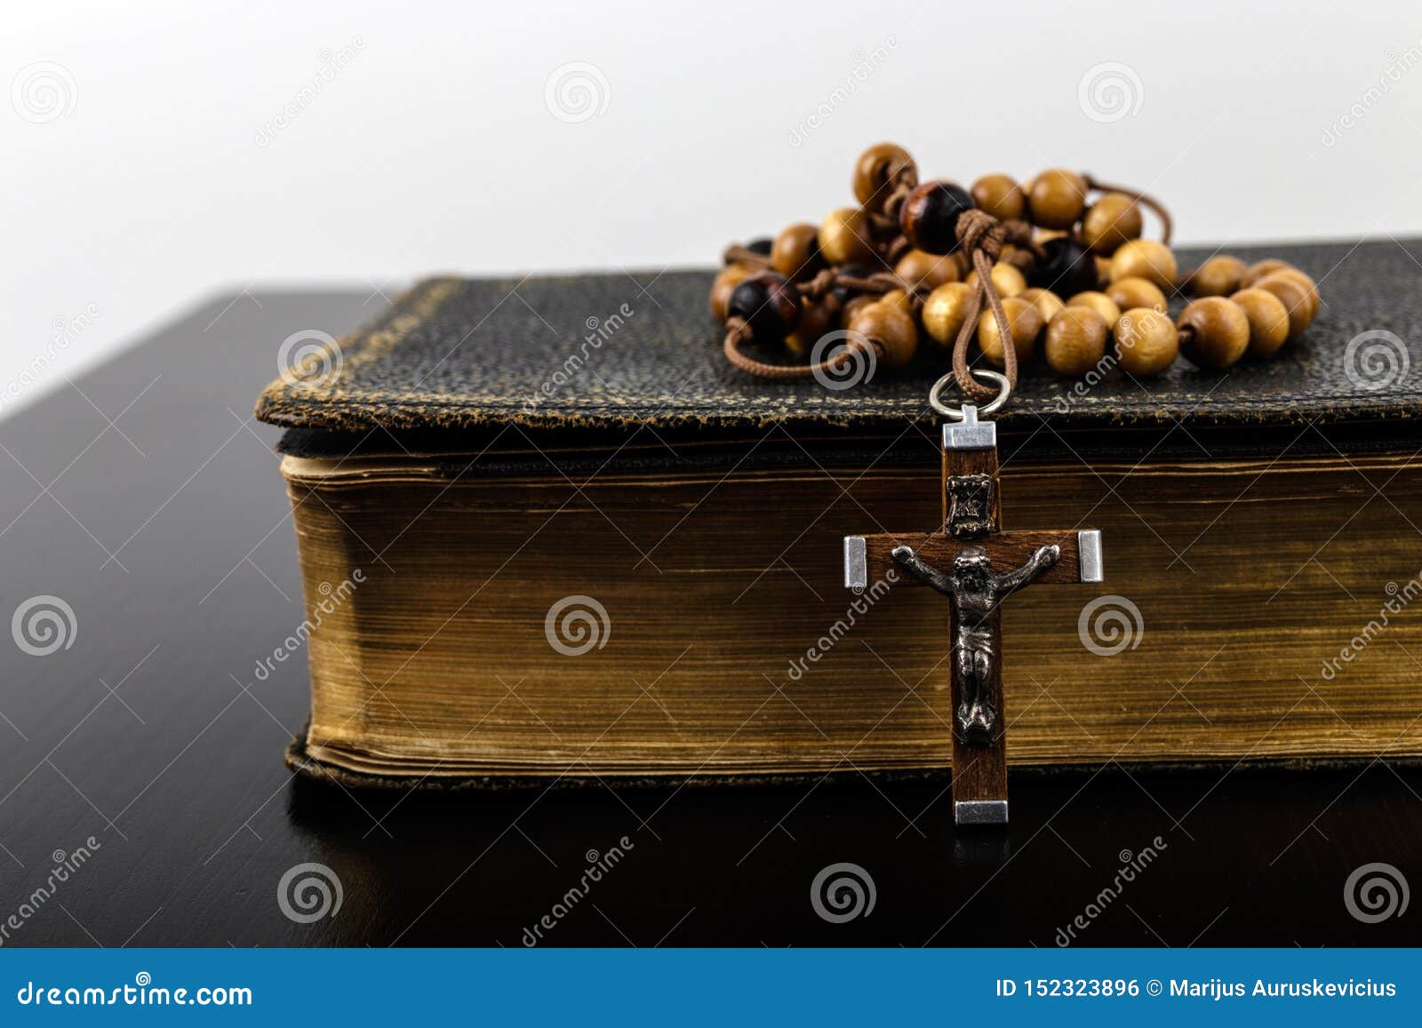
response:
M990 744L997 731L997 708L990 692L997 674L997 606L1018 589L1042 577L1057 564L1061 553L1059 546L1042 546L1021 567L993 574L987 550L968 546L953 559L953 574L944 574L923 563L907 546L890 550L899 567L953 601L953 624L957 626L957 637L953 640L954 674L963 682L957 722L970 745Z

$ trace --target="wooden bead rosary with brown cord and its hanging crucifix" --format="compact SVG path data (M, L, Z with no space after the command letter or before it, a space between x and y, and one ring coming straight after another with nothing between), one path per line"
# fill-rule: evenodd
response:
M953 816L1005 825L1001 603L1038 582L1099 583L1105 573L1099 530L1003 530L997 425L980 415L1008 401L1038 341L1069 377L1113 365L1156 375L1179 354L1204 370L1267 360L1308 328L1318 287L1281 260L1217 255L1182 274L1165 206L1062 168L1027 183L985 175L963 189L920 183L907 151L879 144L859 156L853 188L859 206L819 226L729 246L711 313L725 324L727 360L768 380L843 388L907 367L924 333L950 348L951 371L929 391L947 418L943 520L929 533L846 536L845 586L926 584L948 597ZM1160 220L1160 240L1142 237L1142 208ZM1190 300L1172 320L1176 294ZM974 338L993 367L970 367ZM958 407L941 398L950 382L966 397Z

